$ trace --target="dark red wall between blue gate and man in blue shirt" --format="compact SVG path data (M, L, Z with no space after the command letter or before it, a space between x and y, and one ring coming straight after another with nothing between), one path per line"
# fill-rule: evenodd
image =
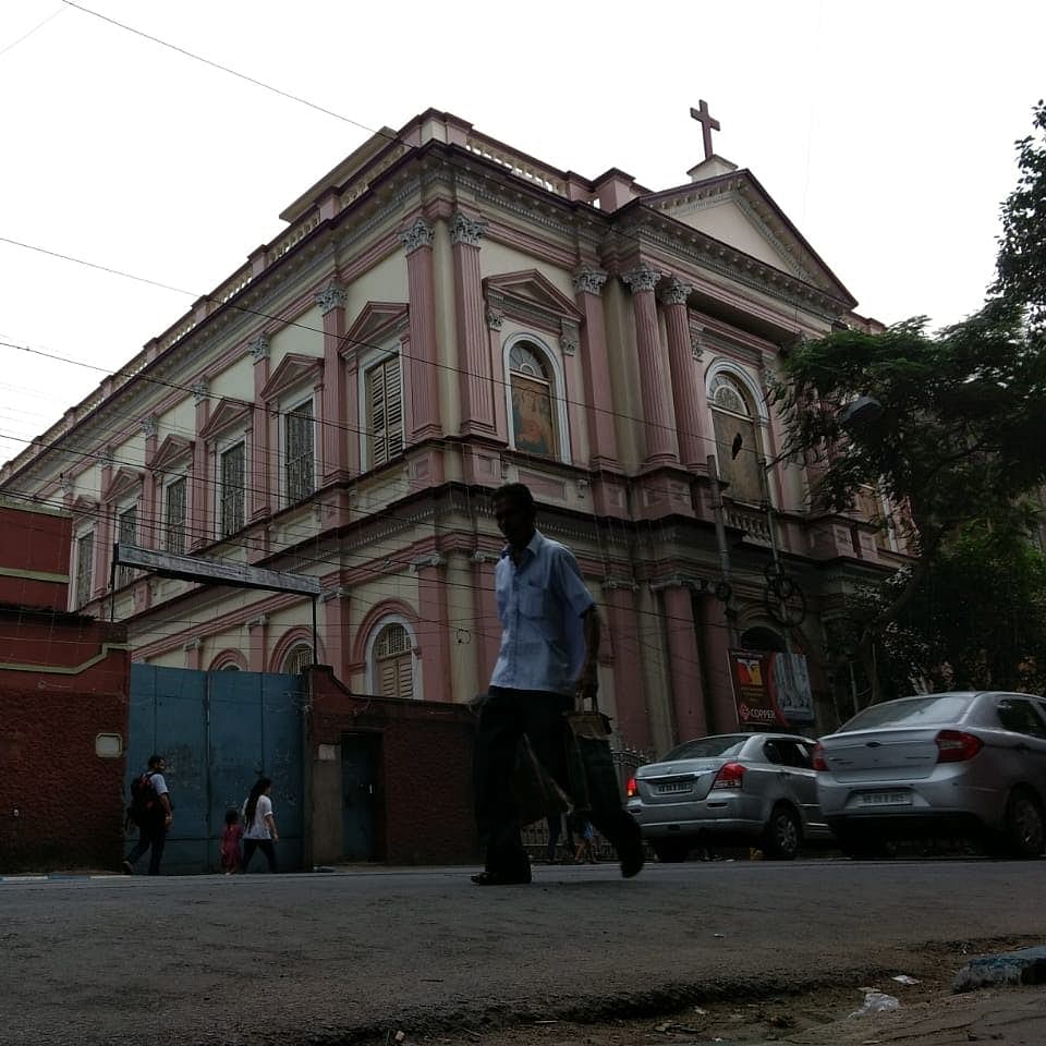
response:
M314 750L340 744L345 733L377 739L377 859L389 864L475 861L472 713L443 702L353 695L326 667L314 669L311 678Z

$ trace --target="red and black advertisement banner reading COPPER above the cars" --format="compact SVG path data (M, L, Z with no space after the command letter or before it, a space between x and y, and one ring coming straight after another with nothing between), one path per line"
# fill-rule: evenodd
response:
M742 727L814 721L810 671L802 654L730 650L730 678Z

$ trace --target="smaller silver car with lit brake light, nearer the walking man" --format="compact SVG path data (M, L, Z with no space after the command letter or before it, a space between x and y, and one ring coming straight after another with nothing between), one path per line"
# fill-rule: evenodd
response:
M744 842L792 860L803 838L829 838L817 808L814 742L790 733L728 733L688 741L641 766L625 807L659 861L695 847Z

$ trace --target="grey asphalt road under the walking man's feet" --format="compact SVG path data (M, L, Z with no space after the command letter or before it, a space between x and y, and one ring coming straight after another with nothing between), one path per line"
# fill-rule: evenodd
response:
M0 883L0 1043L384 1042L859 985L1046 941L1043 862L816 861ZM369 1037L368 1037L369 1036Z

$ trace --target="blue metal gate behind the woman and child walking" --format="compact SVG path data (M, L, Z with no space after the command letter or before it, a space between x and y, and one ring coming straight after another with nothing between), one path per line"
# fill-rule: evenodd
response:
M301 868L302 709L297 676L131 666L126 793L154 752L167 759L174 823L163 872L216 871L226 811L262 775L272 778L279 867Z

